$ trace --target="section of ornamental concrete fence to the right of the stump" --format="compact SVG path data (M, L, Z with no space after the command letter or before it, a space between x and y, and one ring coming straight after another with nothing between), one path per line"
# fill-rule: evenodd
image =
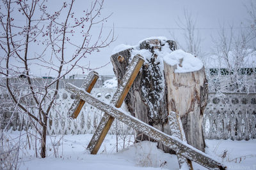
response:
M206 139L256 138L256 94L209 93L204 136Z

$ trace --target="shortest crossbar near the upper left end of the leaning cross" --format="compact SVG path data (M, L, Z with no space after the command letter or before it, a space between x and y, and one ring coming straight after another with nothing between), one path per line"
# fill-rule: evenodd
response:
M91 71L86 77L86 79L84 80L84 83L81 88L85 89L86 92L90 93L98 78L99 78L99 74L95 71ZM72 103L72 105L70 106L70 109L68 110L68 116L72 118L77 118L81 109L84 106L84 103L85 102L82 99L79 99L76 97L76 99L74 100L74 103Z

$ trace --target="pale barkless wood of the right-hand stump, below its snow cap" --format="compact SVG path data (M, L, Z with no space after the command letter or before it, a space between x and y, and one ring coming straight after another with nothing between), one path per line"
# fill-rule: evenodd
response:
M175 73L176 67L164 62L165 81L168 84L168 107L170 107L168 110L180 115L188 144L204 152L202 121L208 98L204 67L199 71Z

